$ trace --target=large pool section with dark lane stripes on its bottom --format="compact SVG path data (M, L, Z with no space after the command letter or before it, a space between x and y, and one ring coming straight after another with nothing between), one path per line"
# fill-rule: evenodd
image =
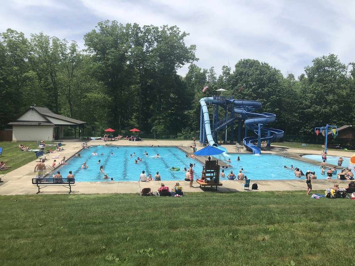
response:
M103 155L92 155L93 151L97 154L103 153ZM148 156L144 154L145 151L147 151ZM110 155L111 153L114 155ZM158 153L159 157L157 158ZM111 181L110 179L103 179L105 173L110 178L112 177L114 181L138 181L143 170L147 177L148 174L152 174L153 179L155 173L159 171L162 181L184 180L185 171L170 171L169 169L170 167L181 169L187 167L188 170L190 163L196 164L196 176L202 170L202 164L199 161L186 157L186 154L176 147L94 146L88 150L80 151L80 155L82 157L73 157L70 161L67 161L68 165L61 166L57 171L60 171L63 177L66 177L68 172L72 171L76 182L87 182ZM142 161L136 164L135 159L137 157L142 158ZM98 163L98 160L101 160L101 162ZM81 169L83 162L88 165L87 169ZM104 173L100 172L100 165L103 165Z

